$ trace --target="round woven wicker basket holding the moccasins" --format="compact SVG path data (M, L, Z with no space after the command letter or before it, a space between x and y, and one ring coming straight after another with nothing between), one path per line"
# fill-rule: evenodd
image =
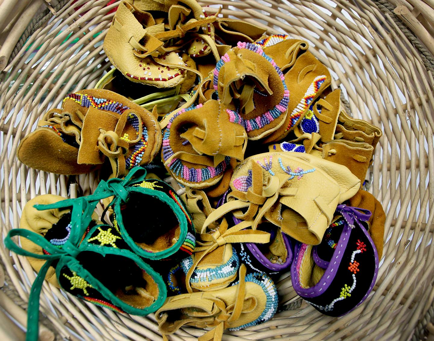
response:
M58 106L68 92L94 87L109 68L102 41L113 17L109 10L118 2L106 7L108 1L78 0L73 6L72 0L50 1L51 6L36 17L38 12L33 10L34 20L26 21L30 27L24 37L15 49L10 48L9 63L3 61L7 64L0 84L3 236L18 227L21 209L30 198L45 193L85 195L98 182L97 174L66 177L29 169L15 154L20 138L34 129L41 115ZM415 8L433 3L424 1L411 3ZM220 13L224 16L263 23L269 27L268 33L286 32L309 40L312 53L332 71L332 87L342 89L347 109L384 131L375 151L369 191L387 212L385 251L377 284L367 301L342 318L325 316L296 295L289 274L284 274L276 283L281 301L275 317L245 330L226 331L224 340L417 340L426 338L427 329L434 329L430 323L434 316L433 57L429 49L421 51L423 39L418 40L417 33L410 32L413 39L400 29L399 18L397 21L387 10L386 1L381 1L381 9L378 3L201 1L203 6L223 5ZM36 9L42 4L43 0L31 3ZM217 7L206 10L215 13ZM432 24L427 23L430 29ZM23 331L8 318L25 329L25 309L35 273L25 257L10 254L3 243L0 256L4 268L0 271L0 305L6 311L0 310L2 340L21 340ZM44 341L161 340L154 316L129 316L98 308L48 282L43 285L40 303L40 339ZM194 340L203 333L182 328L171 340Z

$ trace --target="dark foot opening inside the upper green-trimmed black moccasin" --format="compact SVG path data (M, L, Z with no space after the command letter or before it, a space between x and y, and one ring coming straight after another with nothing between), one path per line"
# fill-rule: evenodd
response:
M156 197L131 192L121 212L128 235L145 251L164 251L179 239L178 218L168 204Z

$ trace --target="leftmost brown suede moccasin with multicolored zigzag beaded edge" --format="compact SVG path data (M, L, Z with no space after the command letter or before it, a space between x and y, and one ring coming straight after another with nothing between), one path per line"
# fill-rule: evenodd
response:
M161 146L161 129L148 110L109 90L68 94L62 109L49 110L24 137L17 156L29 167L57 174L84 174L108 157L123 176L149 163Z

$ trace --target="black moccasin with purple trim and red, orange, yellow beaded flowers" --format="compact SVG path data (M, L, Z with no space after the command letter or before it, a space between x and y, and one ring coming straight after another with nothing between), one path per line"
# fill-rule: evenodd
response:
M297 294L330 316L347 314L368 297L378 254L367 231L369 211L339 205L321 244L297 243L291 280Z

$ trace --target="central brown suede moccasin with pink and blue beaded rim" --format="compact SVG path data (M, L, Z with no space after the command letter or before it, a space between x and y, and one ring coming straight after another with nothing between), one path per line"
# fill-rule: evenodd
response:
M182 109L164 130L161 158L184 186L217 184L231 159L243 160L247 143L244 127L232 123L217 100Z

